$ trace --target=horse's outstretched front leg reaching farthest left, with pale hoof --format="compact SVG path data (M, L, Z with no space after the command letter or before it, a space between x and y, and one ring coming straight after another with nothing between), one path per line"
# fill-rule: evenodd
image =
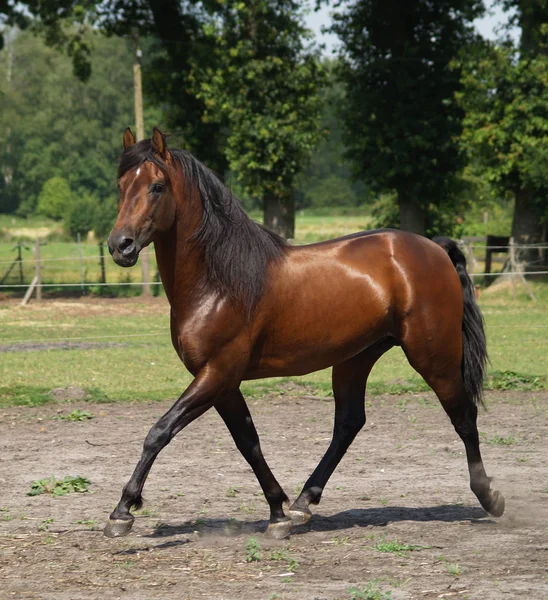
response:
M145 438L141 458L104 529L107 537L129 533L135 520L130 510L132 507L139 509L143 503L143 486L156 457L181 429L213 406L225 386L221 373L203 369L177 402L152 426Z

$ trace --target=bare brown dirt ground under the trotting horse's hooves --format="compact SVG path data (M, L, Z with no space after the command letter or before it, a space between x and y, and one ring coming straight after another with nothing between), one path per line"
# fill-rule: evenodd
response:
M314 518L283 541L263 536L268 507L214 411L162 452L132 533L112 540L102 526L169 403L3 409L0 597L548 598L548 393L487 402L482 451L502 518L469 491L463 446L432 395L379 396ZM94 418L54 418L76 408ZM285 394L250 408L295 498L328 445L333 403ZM89 492L26 495L50 475L86 477Z

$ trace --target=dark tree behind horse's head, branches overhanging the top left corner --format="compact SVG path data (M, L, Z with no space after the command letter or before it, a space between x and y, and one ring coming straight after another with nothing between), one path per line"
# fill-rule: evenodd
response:
M48 46L64 51L81 81L88 81L95 68L90 30L144 40L145 96L163 108L163 119L155 125L161 122L181 132L186 148L222 173L227 166L222 132L217 123L204 122L203 101L189 83L190 65L205 65L213 57L212 40L204 34L203 24L222 4L218 0L22 0L0 7L0 24L29 29ZM0 49L1 39L0 32Z

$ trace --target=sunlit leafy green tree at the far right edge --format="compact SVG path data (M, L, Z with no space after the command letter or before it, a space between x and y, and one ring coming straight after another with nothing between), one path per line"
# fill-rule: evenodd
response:
M462 143L476 172L515 198L515 241L538 243L548 221L548 2L504 4L521 41L485 43L463 62Z

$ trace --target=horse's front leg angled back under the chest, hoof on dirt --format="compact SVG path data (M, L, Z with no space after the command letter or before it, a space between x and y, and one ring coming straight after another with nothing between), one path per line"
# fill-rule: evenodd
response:
M222 394L215 408L232 434L236 447L253 469L270 506L267 533L277 539L286 537L293 524L283 510L283 503L288 502L288 498L263 456L257 430L242 393L231 390Z

